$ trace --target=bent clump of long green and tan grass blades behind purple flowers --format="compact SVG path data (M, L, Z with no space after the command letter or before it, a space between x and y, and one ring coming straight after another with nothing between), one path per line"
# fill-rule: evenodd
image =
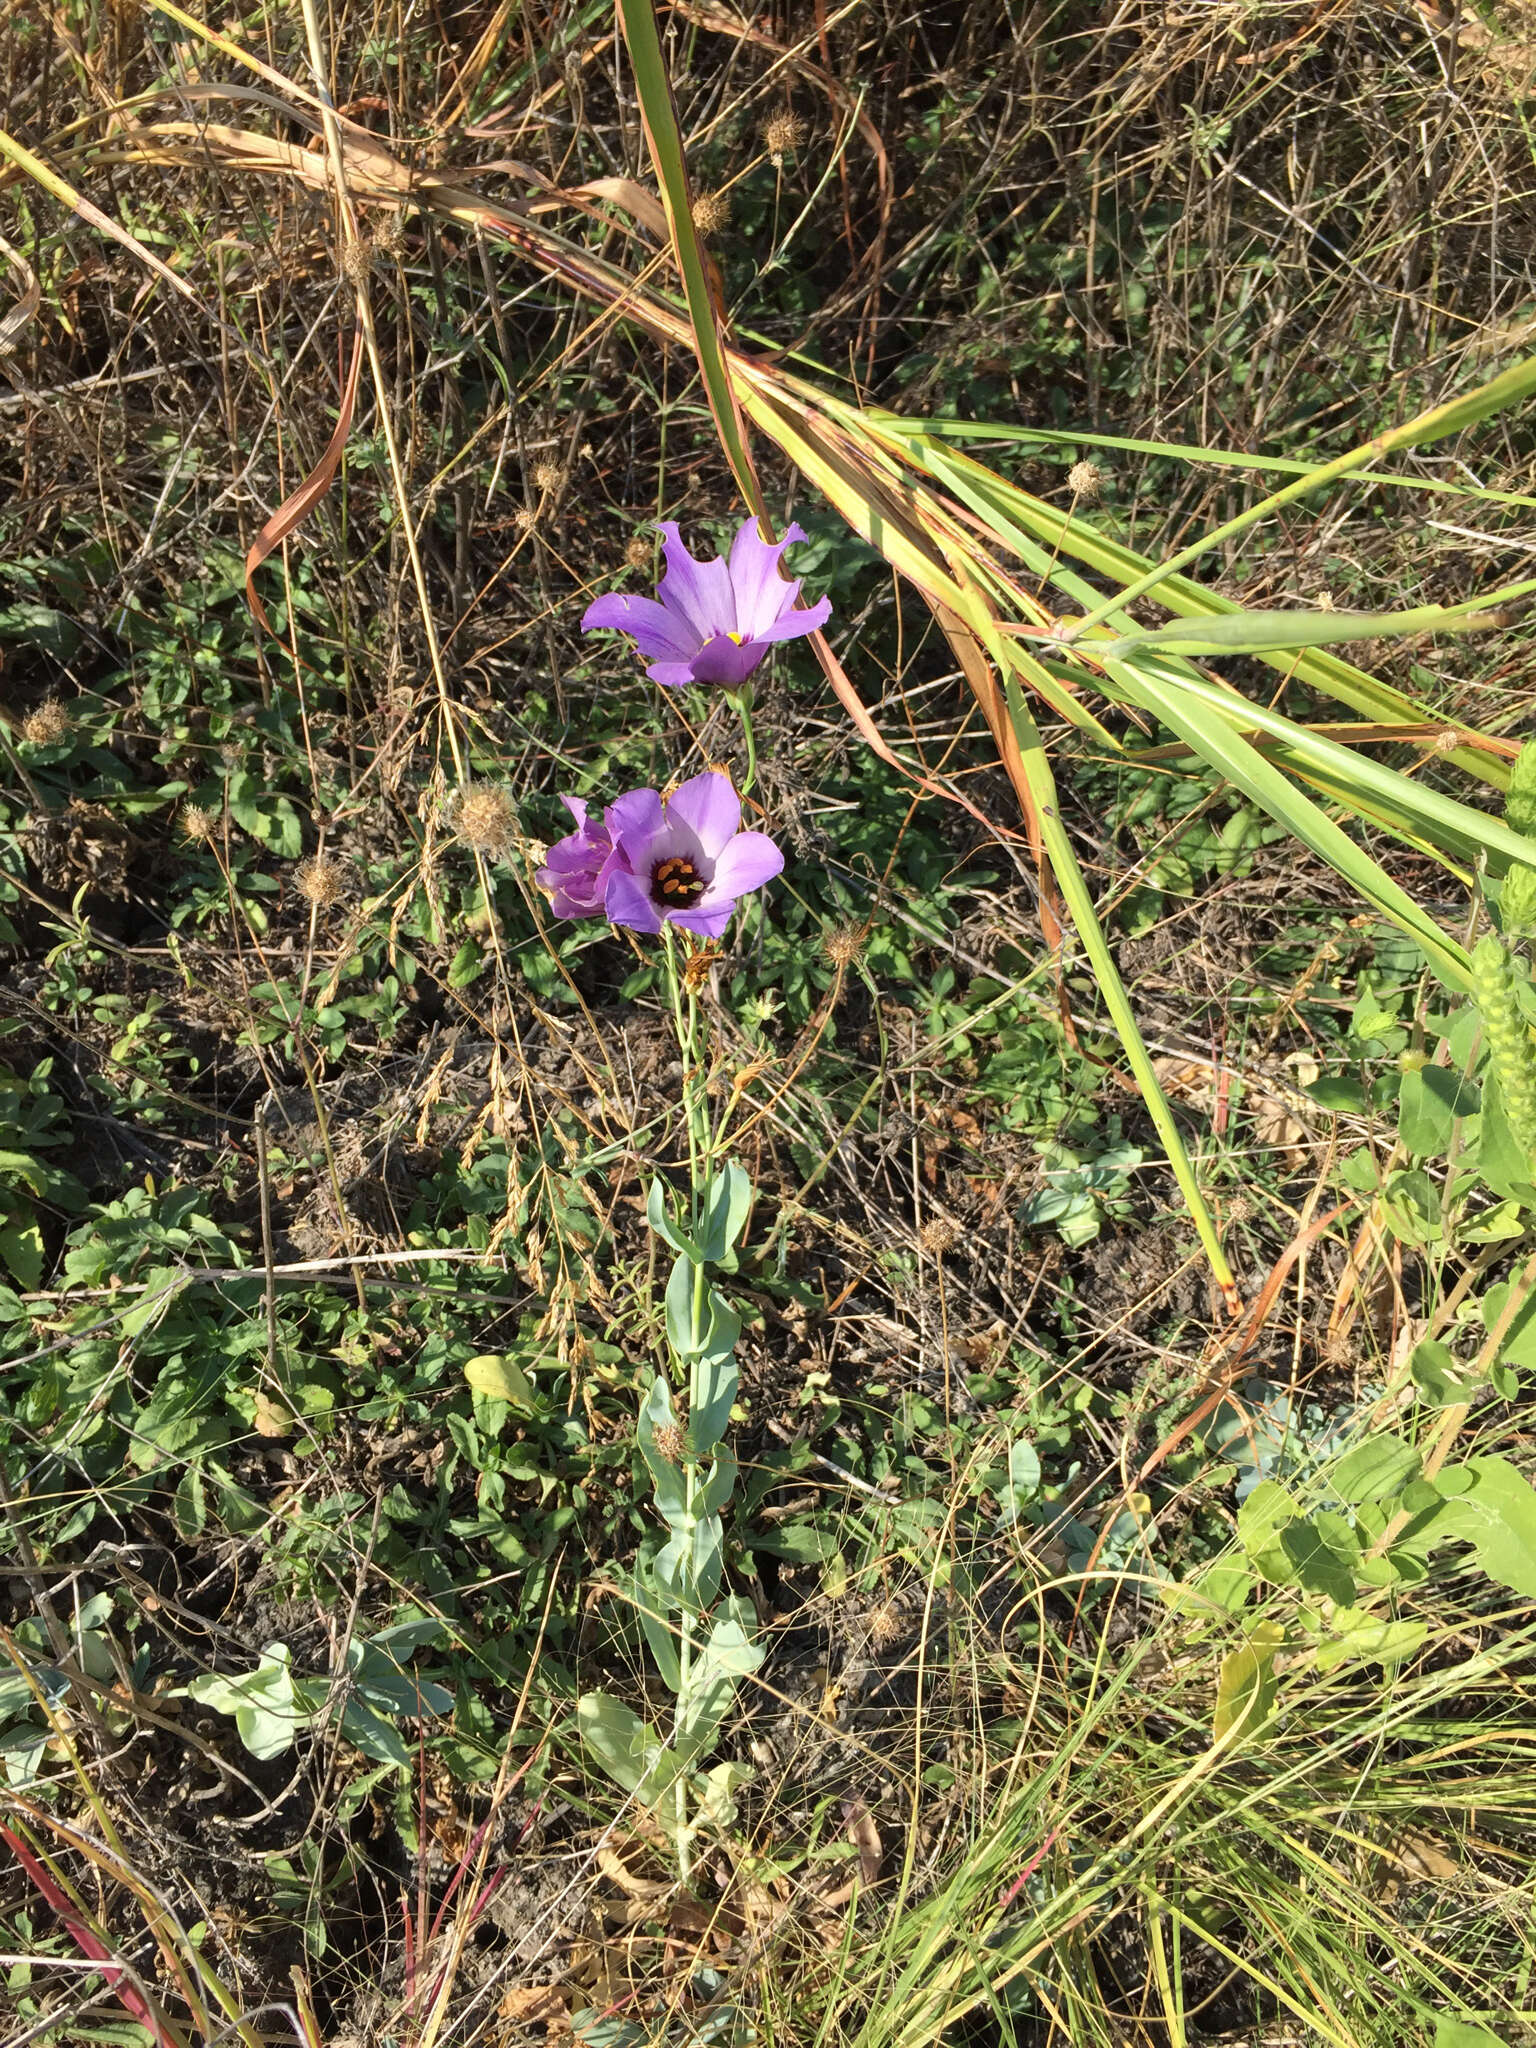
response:
M254 72L264 92L283 84L268 66L193 20L174 0L150 4L225 59ZM1520 406L1536 391L1536 358L1516 362L1329 463L1296 465L1298 473L1280 489L1255 498L1235 518L1176 555L1151 561L1075 516L1083 492L1077 492L1073 508L1063 510L1010 483L965 446L967 440L1032 444L1040 438L1034 430L907 420L848 403L731 340L719 285L694 223L686 154L651 0L618 0L618 20L662 190L680 299L639 281L528 211L498 207L469 186L455 184L446 172L430 182L414 178L383 150L377 135L348 123L334 109L322 109L315 94L295 80L285 82L293 117L313 127L324 113L334 135L334 164L315 150L254 129L184 119L131 119L113 133L111 154L188 166L213 160L225 170L281 176L317 188L326 188L334 172L344 174L348 205L389 211L414 207L500 240L561 287L606 305L653 338L696 354L721 449L748 508L758 516L766 510L752 461L752 428L797 465L934 612L987 717L1018 795L1018 836L1040 874L1044 938L1059 948L1067 928L1075 930L1210 1270L1235 1311L1233 1274L1200 1176L1163 1098L1114 948L1098 922L1094 891L1061 817L1040 713L1044 707L1110 752L1126 748L1118 737L1126 715L1139 731L1161 727L1171 733L1180 752L1223 776L1247 803L1331 866L1382 920L1405 932L1448 989L1466 993L1473 973L1466 946L1366 852L1350 827L1364 825L1372 834L1397 838L1438 860L1460 885L1473 881L1479 862L1499 881L1513 866L1530 866L1532 840L1432 786L1423 776L1386 766L1368 750L1382 743L1434 750L1444 766L1495 791L1507 786L1509 762L1518 750L1470 727L1448 731L1432 707L1356 668L1333 649L1352 641L1466 633L1499 623L1511 602L1536 590L1536 580L1491 590L1458 606L1321 612L1249 610L1208 590L1188 571L1210 551L1272 522L1309 494L1343 487L1352 477L1368 479L1374 489L1417 483L1419 479L1397 477L1389 467L1391 457L1446 440ZM242 90L231 88L231 96ZM145 115L150 111L143 109ZM82 139L74 143L70 162L104 147ZM528 166L520 166L520 172L539 186L541 209L567 205L588 215L594 211L590 195L561 193ZM59 180L57 174L51 176L53 184L47 188L55 190ZM80 197L74 186L66 184L63 190L72 199ZM623 209L633 195L618 190L608 197ZM633 205L637 219L643 217L647 231L653 229L655 203L649 195L641 193ZM381 406L387 412L383 391ZM1208 459L1208 451L1145 446L1147 453ZM1145 625L1139 616L1141 600L1171 612L1171 623ZM608 616L606 623L621 629L643 625L639 618L618 616ZM649 623L655 625L653 618ZM700 625L721 627L723 621L705 618ZM727 637L729 631L739 629L727 629ZM635 637L647 653L643 633L635 631ZM717 659L731 666L719 639L719 631L700 631L698 639L674 633L666 647L653 645L647 659L653 668L688 668L702 657L705 666L696 674L705 676L715 670ZM825 639L817 633L811 645L866 743L909 774L918 788L969 807L969 799L950 782L899 758ZM1247 696L1210 668L1210 662L1229 655L1257 659L1286 682L1348 707L1352 719L1305 723L1264 696ZM723 686L733 688L729 682ZM446 682L440 688L446 690ZM745 692L750 686L735 688ZM1104 719L1106 709L1114 715L1110 723ZM453 721L449 731L453 733ZM1135 743L1133 737L1130 745ZM999 831L1012 829L993 819L987 823Z

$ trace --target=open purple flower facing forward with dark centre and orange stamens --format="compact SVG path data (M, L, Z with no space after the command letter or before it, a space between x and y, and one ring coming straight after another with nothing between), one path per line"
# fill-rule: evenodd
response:
M680 924L719 938L735 899L784 866L766 831L741 831L741 799L715 770L682 782L666 803L653 788L631 791L608 805L608 831L616 864L604 909L633 932Z

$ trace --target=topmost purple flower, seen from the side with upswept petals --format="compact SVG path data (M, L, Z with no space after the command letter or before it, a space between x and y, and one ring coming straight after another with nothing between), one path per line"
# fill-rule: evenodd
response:
M631 633L651 682L670 690L688 682L737 688L774 641L803 639L831 616L827 598L795 610L801 586L778 573L784 549L805 539L799 526L770 547L750 518L731 543L729 561L723 555L694 561L674 520L664 520L659 532L668 567L655 598L610 592L588 604L582 618L584 633L604 627Z

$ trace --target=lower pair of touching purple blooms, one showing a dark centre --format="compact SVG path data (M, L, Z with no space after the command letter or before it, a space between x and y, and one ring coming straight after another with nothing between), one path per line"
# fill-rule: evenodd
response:
M608 805L602 825L567 797L578 829L549 848L539 868L559 918L606 915L633 932L678 924L719 938L737 899L784 866L766 831L741 831L731 778L709 770L670 797L633 788Z

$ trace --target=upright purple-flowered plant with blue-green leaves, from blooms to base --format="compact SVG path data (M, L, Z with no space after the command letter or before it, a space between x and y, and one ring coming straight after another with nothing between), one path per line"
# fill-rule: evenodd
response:
M768 649L813 633L825 600L797 608L799 584L780 557L799 528L768 543L758 520L741 524L729 557L696 561L676 526L662 528L666 573L655 598L604 596L586 631L629 633L666 688L721 684L737 705L750 745L750 678ZM702 1769L735 1688L758 1669L752 1604L723 1591L725 1507L735 1458L725 1442L737 1393L741 1317L719 1278L737 1264L752 1214L752 1182L727 1159L727 1126L739 1100L711 1110L711 1047L698 989L715 940L750 891L772 881L784 856L766 831L741 827L741 799L725 774L707 770L670 797L629 791L602 817L565 797L573 831L549 848L539 883L561 918L606 918L659 940L672 1020L682 1055L682 1122L688 1186L678 1200L653 1180L647 1219L672 1253L666 1286L668 1370L657 1372L639 1413L639 1448L662 1526L639 1546L633 1602L655 1667L674 1694L672 1726L657 1729L610 1694L586 1694L578 1720L588 1753L649 1808L686 1872L700 1827L725 1825L743 1767Z

